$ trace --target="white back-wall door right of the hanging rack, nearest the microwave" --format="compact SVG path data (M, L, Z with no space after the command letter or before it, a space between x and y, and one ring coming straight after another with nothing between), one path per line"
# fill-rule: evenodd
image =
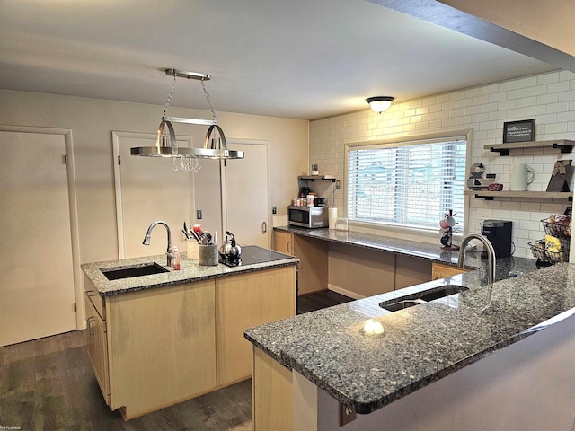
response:
M226 230L241 245L270 247L270 174L268 143L228 139L230 149L244 158L226 161L224 200ZM223 235L224 236L224 235Z

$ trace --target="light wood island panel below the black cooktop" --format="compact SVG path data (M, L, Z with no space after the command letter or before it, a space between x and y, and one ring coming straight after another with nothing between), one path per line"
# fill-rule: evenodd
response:
M243 331L296 315L296 267L217 280L217 385L252 375L252 344Z

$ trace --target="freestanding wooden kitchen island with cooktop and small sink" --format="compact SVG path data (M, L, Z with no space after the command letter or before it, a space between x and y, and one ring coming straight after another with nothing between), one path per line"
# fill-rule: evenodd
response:
M110 409L136 418L251 377L243 330L296 314L298 260L257 246L242 256L232 268L182 256L179 271L165 255L82 265L88 353ZM146 270L158 273L129 277Z

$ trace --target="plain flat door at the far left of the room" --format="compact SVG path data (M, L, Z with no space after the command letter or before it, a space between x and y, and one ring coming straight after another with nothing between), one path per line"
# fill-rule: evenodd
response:
M75 330L63 135L0 131L0 346Z

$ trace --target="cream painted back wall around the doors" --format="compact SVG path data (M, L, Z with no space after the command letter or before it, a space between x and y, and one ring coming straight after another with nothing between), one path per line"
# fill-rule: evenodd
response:
M0 90L0 124L72 129L82 263L117 259L118 256L111 132L155 133L163 108L159 105ZM208 110L172 107L169 114L210 118ZM308 122L228 112L218 112L218 122L228 138L270 142L271 205L277 205L279 213L285 214L289 199L297 192L296 177L306 170ZM207 128L181 124L174 125L174 128L176 134L192 136L194 146L203 145ZM30 161L28 169L32 172L34 165L41 162L42 154L38 154ZM211 201L218 202L217 178L217 167L212 169L208 161L201 174L196 176L196 205L205 210L204 214L206 210L208 213L213 210Z

